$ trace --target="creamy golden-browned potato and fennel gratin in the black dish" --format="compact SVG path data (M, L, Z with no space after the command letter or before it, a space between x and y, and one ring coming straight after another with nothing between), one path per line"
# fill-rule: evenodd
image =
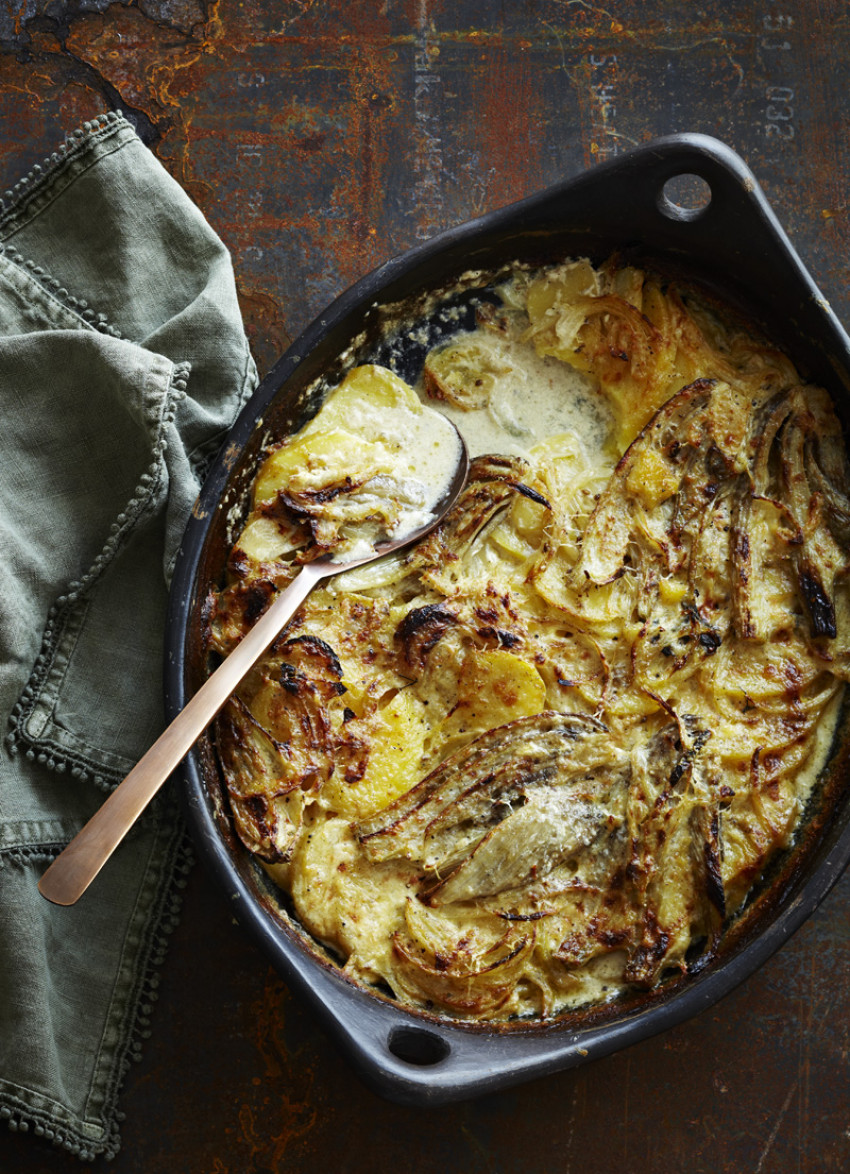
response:
M453 510L316 589L216 740L238 835L345 973L477 1020L710 958L800 826L850 667L827 393L648 271L500 295L418 389L356 367L271 451L208 606L227 655L352 486L389 508L357 404L458 421Z

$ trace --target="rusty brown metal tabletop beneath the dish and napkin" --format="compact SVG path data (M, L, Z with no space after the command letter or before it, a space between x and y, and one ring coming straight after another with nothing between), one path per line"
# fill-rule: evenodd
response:
M365 271L632 143L717 135L850 324L839 0L6 0L0 178L120 107L234 255L261 371ZM586 1068L366 1092L196 870L116 1174L850 1169L850 877L743 987ZM0 1134L0 1170L81 1166Z

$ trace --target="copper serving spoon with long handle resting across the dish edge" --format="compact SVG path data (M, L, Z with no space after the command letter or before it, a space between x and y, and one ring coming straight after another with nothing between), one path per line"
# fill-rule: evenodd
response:
M457 432L457 429L454 431ZM147 754L139 760L123 782L119 783L82 831L77 832L65 851L60 852L50 864L39 882L39 892L42 897L55 905L73 905L82 897L154 795L201 737L249 669L291 620L316 583L410 546L443 520L457 501L470 470L466 445L460 433L457 434L459 456L454 475L427 521L403 538L378 542L363 558L337 562L332 555L326 554L313 562L306 562L227 660L210 674Z

